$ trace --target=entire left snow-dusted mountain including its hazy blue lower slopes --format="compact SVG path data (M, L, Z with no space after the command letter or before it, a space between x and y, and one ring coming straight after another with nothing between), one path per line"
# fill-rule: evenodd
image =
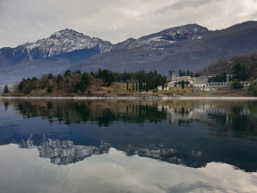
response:
M64 29L32 43L0 49L0 84L13 83L22 77L58 74L71 64L111 49L112 44Z

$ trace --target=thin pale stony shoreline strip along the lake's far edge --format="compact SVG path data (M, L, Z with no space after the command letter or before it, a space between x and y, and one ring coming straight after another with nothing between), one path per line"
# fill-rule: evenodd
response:
M0 98L10 98L10 99L162 99L162 100L196 100L196 99L212 99L212 100L257 100L257 97L254 96L199 96L199 97L160 97L160 96L152 96L152 97L131 97L131 96L0 96Z

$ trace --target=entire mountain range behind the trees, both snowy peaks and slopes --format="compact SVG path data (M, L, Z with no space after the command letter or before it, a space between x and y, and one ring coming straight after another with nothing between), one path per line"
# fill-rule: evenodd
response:
M172 27L158 33L129 38L117 44L71 29L53 33L35 43L0 49L0 84L22 77L71 71L169 70L200 71L218 59L257 51L257 21L222 30L198 24Z

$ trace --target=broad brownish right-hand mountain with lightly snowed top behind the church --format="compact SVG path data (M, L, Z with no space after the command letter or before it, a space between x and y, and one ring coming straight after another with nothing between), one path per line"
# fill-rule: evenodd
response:
M70 70L113 71L140 69L199 71L218 59L257 50L257 22L248 21L223 30L207 30L197 24L170 28L143 36L122 49L93 56L72 65Z

